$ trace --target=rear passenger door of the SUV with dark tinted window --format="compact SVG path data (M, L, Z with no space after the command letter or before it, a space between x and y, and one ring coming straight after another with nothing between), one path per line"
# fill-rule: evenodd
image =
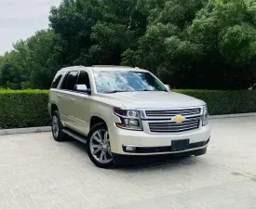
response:
M65 126L73 127L74 125L74 85L77 82L78 72L68 72L61 84L61 121Z

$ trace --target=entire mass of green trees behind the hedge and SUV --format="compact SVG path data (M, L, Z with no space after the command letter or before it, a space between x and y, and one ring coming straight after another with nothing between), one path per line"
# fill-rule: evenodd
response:
M176 88L256 80L255 0L62 0L49 21L0 58L0 86L46 89L61 67L120 63Z

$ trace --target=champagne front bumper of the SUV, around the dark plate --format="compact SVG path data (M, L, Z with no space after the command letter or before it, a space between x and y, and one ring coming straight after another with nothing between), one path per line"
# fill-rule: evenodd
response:
M156 155L178 152L188 152L206 149L209 144L210 126L177 134L148 134L143 131L130 131L117 127L110 130L111 150L114 154L121 155ZM172 140L189 139L189 149L171 151ZM136 147L136 151L128 152L126 146Z

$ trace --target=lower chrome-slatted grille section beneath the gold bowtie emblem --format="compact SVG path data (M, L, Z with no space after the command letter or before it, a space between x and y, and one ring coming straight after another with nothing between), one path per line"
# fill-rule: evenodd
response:
M195 130L199 127L200 120L189 120L181 124L176 124L175 122L158 122L149 123L149 128L151 132L157 133L178 133L184 131Z

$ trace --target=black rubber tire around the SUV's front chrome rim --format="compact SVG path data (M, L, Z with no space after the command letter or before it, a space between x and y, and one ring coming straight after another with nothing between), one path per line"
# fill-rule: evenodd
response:
M108 128L106 124L96 124L95 126L92 127L92 129L90 130L89 134L88 134L88 146L87 146L87 150L88 150L88 157L91 160L92 163L94 163L96 166L100 167L100 168L111 168L114 166L114 161L113 161L113 157L112 160L108 163L101 163L99 162L99 160L96 160L95 155L92 153L91 150L91 145L93 145L93 136L95 134L97 134L97 132L101 132L102 130L105 130L108 132ZM110 148L110 144L109 144L109 148ZM101 152L102 150L100 150L99 152ZM109 154L108 151L106 151L109 158L111 158L111 155Z

